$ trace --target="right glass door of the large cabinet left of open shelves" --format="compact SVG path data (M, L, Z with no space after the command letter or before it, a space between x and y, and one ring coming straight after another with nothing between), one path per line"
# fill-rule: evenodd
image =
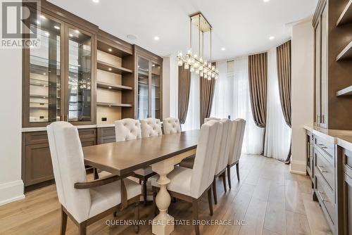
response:
M68 27L69 122L92 120L92 37Z

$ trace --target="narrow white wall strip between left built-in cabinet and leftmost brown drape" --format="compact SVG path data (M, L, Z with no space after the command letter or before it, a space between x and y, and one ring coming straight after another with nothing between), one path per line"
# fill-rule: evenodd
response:
M176 56L163 57L163 118L177 118L178 67Z

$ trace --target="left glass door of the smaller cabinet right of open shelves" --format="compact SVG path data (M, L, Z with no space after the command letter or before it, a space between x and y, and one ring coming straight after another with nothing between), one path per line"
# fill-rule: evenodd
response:
M149 60L142 57L139 57L137 60L137 119L141 120L149 118Z

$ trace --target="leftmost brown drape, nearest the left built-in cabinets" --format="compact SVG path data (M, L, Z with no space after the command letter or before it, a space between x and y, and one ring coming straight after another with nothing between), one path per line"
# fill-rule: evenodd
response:
M191 72L180 66L178 68L178 119L181 124L184 124L187 117L190 87Z

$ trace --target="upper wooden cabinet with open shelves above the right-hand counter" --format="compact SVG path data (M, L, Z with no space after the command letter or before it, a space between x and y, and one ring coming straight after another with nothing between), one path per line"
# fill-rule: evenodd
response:
M351 0L320 0L313 17L318 127L352 129L351 12Z

